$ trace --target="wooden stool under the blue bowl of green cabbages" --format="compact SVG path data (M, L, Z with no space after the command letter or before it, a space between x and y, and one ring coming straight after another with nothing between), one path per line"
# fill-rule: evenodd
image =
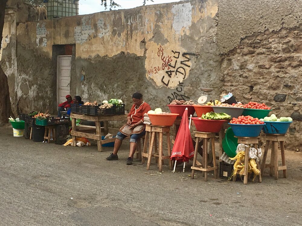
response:
M273 171L275 173L275 180L278 180L278 171L283 170L283 177L286 178L286 165L285 165L285 155L284 155L284 134L265 134L265 149L261 164L261 173L265 170L266 167L270 168L269 175L273 175ZM270 164L265 164L266 155L271 142L271 162ZM281 159L282 166L278 166L278 142L280 142L281 149Z

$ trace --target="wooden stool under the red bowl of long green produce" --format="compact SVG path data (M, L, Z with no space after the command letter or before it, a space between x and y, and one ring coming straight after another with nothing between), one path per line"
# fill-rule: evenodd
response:
M216 156L215 154L215 133L205 133L205 132L198 132L194 131L195 137L196 137L196 145L195 145L195 151L194 151L194 159L193 159L193 166L191 166L192 173L191 173L191 179L194 179L194 170L200 170L203 171L204 181L207 181L207 172L214 170L214 176L217 179L217 169L216 166L216 158L213 158L213 167L208 166L208 141L210 141L211 147L212 147L212 155ZM202 146L202 164L197 161L197 152L198 152L198 143L200 138L203 139L203 146ZM196 165L198 163L198 165Z

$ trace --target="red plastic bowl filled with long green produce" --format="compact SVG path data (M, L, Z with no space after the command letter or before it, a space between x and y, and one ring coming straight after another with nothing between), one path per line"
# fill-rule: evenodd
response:
M192 117L196 130L199 132L219 133L226 120L209 120Z

